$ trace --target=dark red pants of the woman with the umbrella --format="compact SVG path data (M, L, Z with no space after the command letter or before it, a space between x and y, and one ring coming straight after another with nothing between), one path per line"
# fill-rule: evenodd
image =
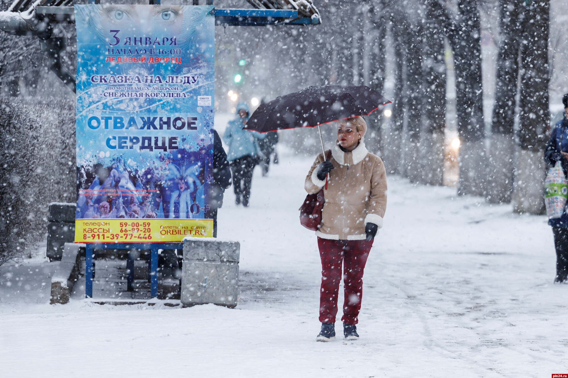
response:
M330 240L318 237L321 257L320 322L335 323L343 262L345 300L341 321L357 324L363 295L363 270L373 240Z

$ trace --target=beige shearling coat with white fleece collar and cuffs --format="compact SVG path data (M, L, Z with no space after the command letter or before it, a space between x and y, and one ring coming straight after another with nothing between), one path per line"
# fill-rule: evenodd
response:
M322 222L316 235L324 239L363 240L365 224L383 226L387 205L385 165L362 142L353 151L343 152L336 141L331 153L334 168L329 172L327 190L324 189ZM309 194L318 193L325 185L325 180L317 176L318 165L324 160L323 153L319 154L306 176L304 188Z

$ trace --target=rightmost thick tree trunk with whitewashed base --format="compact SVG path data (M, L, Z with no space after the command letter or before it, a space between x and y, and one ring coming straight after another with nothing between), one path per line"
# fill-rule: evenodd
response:
M542 214L544 177L542 151L550 122L548 104L549 1L530 2L523 20L520 94L519 160L515 167L513 211Z

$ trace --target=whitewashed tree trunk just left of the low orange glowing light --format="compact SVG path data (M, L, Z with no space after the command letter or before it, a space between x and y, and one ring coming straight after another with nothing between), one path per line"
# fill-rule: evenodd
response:
M425 8L423 40L424 54L424 132L420 136L419 182L442 185L444 173L444 129L446 124L446 64L442 15L429 6Z

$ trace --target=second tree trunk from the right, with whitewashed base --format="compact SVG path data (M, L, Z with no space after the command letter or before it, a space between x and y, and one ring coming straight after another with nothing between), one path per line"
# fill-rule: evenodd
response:
M521 19L517 3L500 0L501 40L495 75L495 103L487 168L487 202L511 202L515 156L515 96L519 71Z

